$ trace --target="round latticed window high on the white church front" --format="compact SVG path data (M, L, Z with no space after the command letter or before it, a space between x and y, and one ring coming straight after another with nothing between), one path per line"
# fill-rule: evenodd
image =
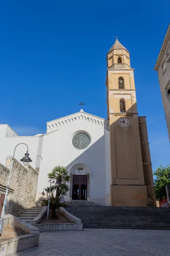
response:
M74 148L85 149L90 144L90 138L84 133L77 133L73 137L72 144Z

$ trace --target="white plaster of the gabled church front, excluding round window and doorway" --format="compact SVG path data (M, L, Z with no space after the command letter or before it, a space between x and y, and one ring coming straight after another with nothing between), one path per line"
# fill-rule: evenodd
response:
M87 114L86 114L87 116ZM74 120L74 115L72 116ZM89 115L89 119L90 119ZM42 144L42 158L37 186L37 197L43 188L49 186L48 173L54 166L65 166L68 171L78 163L91 169L90 200L105 205L105 136L104 126L89 119L77 119L59 126L58 131L46 134ZM104 119L100 120L104 122ZM77 150L71 145L71 137L77 131L90 134L91 145L85 150Z

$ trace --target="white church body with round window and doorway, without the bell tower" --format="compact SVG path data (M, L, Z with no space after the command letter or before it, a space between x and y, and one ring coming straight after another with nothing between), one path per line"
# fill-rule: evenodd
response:
M31 166L39 168L36 200L49 186L48 173L58 165L65 166L71 176L70 191L65 201L88 200L110 205L109 122L80 112L47 122L47 133L18 136L8 125L0 125L0 163L12 155L15 145L26 143ZM4 147L5 145L5 147ZM17 147L20 160L25 146Z

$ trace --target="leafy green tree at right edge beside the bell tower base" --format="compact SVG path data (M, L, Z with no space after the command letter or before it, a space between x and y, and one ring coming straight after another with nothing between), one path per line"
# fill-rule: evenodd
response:
M168 175L170 174L170 165L167 167L160 166L153 173L156 176L154 180L156 199L162 201L163 198L167 198L166 188L167 184L170 185Z

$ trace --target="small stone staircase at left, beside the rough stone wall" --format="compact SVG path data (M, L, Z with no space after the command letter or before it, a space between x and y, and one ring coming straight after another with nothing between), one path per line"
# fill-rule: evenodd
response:
M22 212L17 218L20 218L23 221L30 222L42 211L43 206L33 206L29 209L26 209L25 212Z

